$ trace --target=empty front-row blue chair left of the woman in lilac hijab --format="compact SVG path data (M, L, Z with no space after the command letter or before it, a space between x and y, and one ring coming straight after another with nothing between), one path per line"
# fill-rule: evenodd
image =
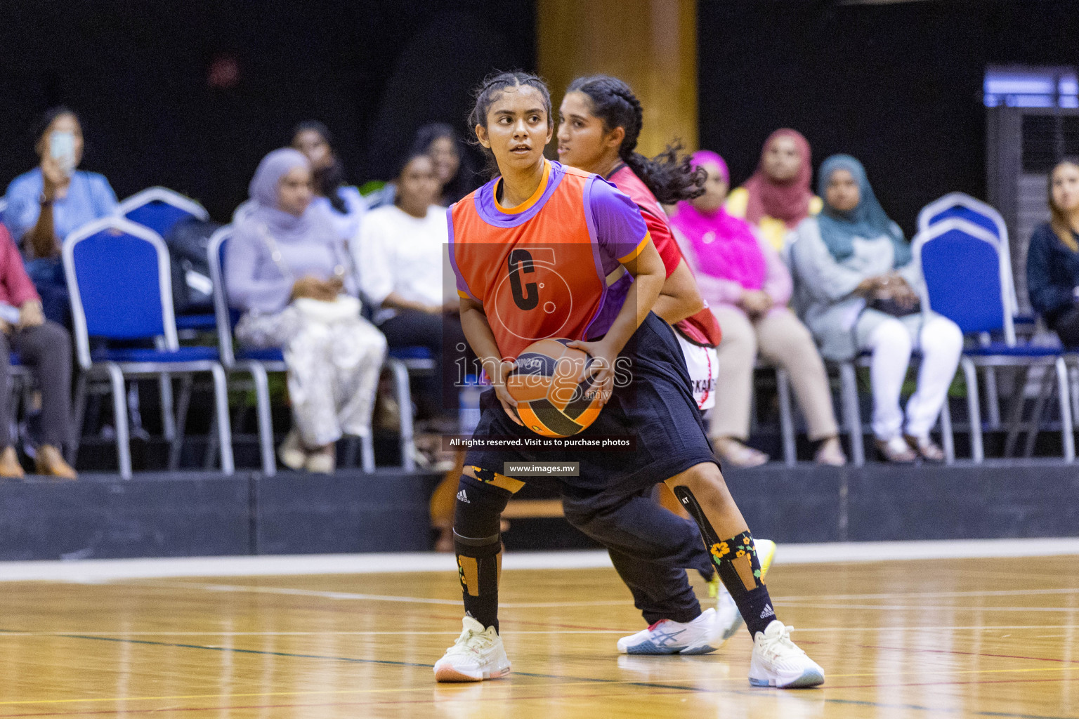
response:
M161 236L120 217L92 222L64 240L64 272L71 294L76 355L85 376L111 384L120 474L132 475L126 377L208 372L214 379L221 470L233 472L224 368L215 347L181 347L173 313L168 248ZM153 340L155 347L101 348L90 337ZM79 402L81 404L81 401Z

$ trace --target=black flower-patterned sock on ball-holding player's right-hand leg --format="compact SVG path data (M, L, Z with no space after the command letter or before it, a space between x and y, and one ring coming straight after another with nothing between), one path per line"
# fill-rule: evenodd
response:
M761 562L756 557L753 535L747 529L737 537L720 539L693 493L687 487L678 486L674 494L697 521L705 547L720 572L720 581L738 605L750 636L755 637L776 619L776 610L771 606L768 587L761 580Z

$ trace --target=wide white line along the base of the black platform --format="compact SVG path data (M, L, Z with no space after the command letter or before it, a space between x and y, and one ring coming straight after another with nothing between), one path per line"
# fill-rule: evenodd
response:
M781 544L776 565L913 559L1079 555L1079 538L957 539L892 542ZM599 551L509 552L504 570L611 567ZM396 573L456 571L452 554L311 554L226 557L159 557L0 563L0 581L100 582L153 577L256 577L273 575Z

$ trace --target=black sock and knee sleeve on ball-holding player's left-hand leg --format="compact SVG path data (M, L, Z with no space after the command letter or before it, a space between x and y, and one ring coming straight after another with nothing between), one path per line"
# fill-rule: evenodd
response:
M498 525L506 503L522 482L473 468L477 479L463 475L453 516L453 549L465 611L483 627L498 631L498 581L502 579L502 536Z

